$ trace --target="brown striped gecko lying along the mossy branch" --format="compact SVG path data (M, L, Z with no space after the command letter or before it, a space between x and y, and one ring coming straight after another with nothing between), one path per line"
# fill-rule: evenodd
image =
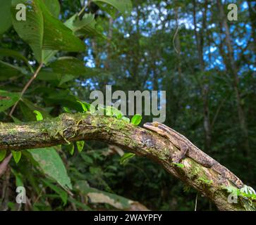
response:
M181 150L180 153L178 153L178 155L173 158L173 162L178 163L187 155L189 158L192 158L200 165L213 169L225 179L231 181L236 187L243 188L243 182L240 181L240 179L235 174L211 158L209 155L204 153L202 150L197 148L197 146L195 146L182 134L159 122L147 122L143 124L143 127L166 137L173 144L173 146L176 146L176 148Z

